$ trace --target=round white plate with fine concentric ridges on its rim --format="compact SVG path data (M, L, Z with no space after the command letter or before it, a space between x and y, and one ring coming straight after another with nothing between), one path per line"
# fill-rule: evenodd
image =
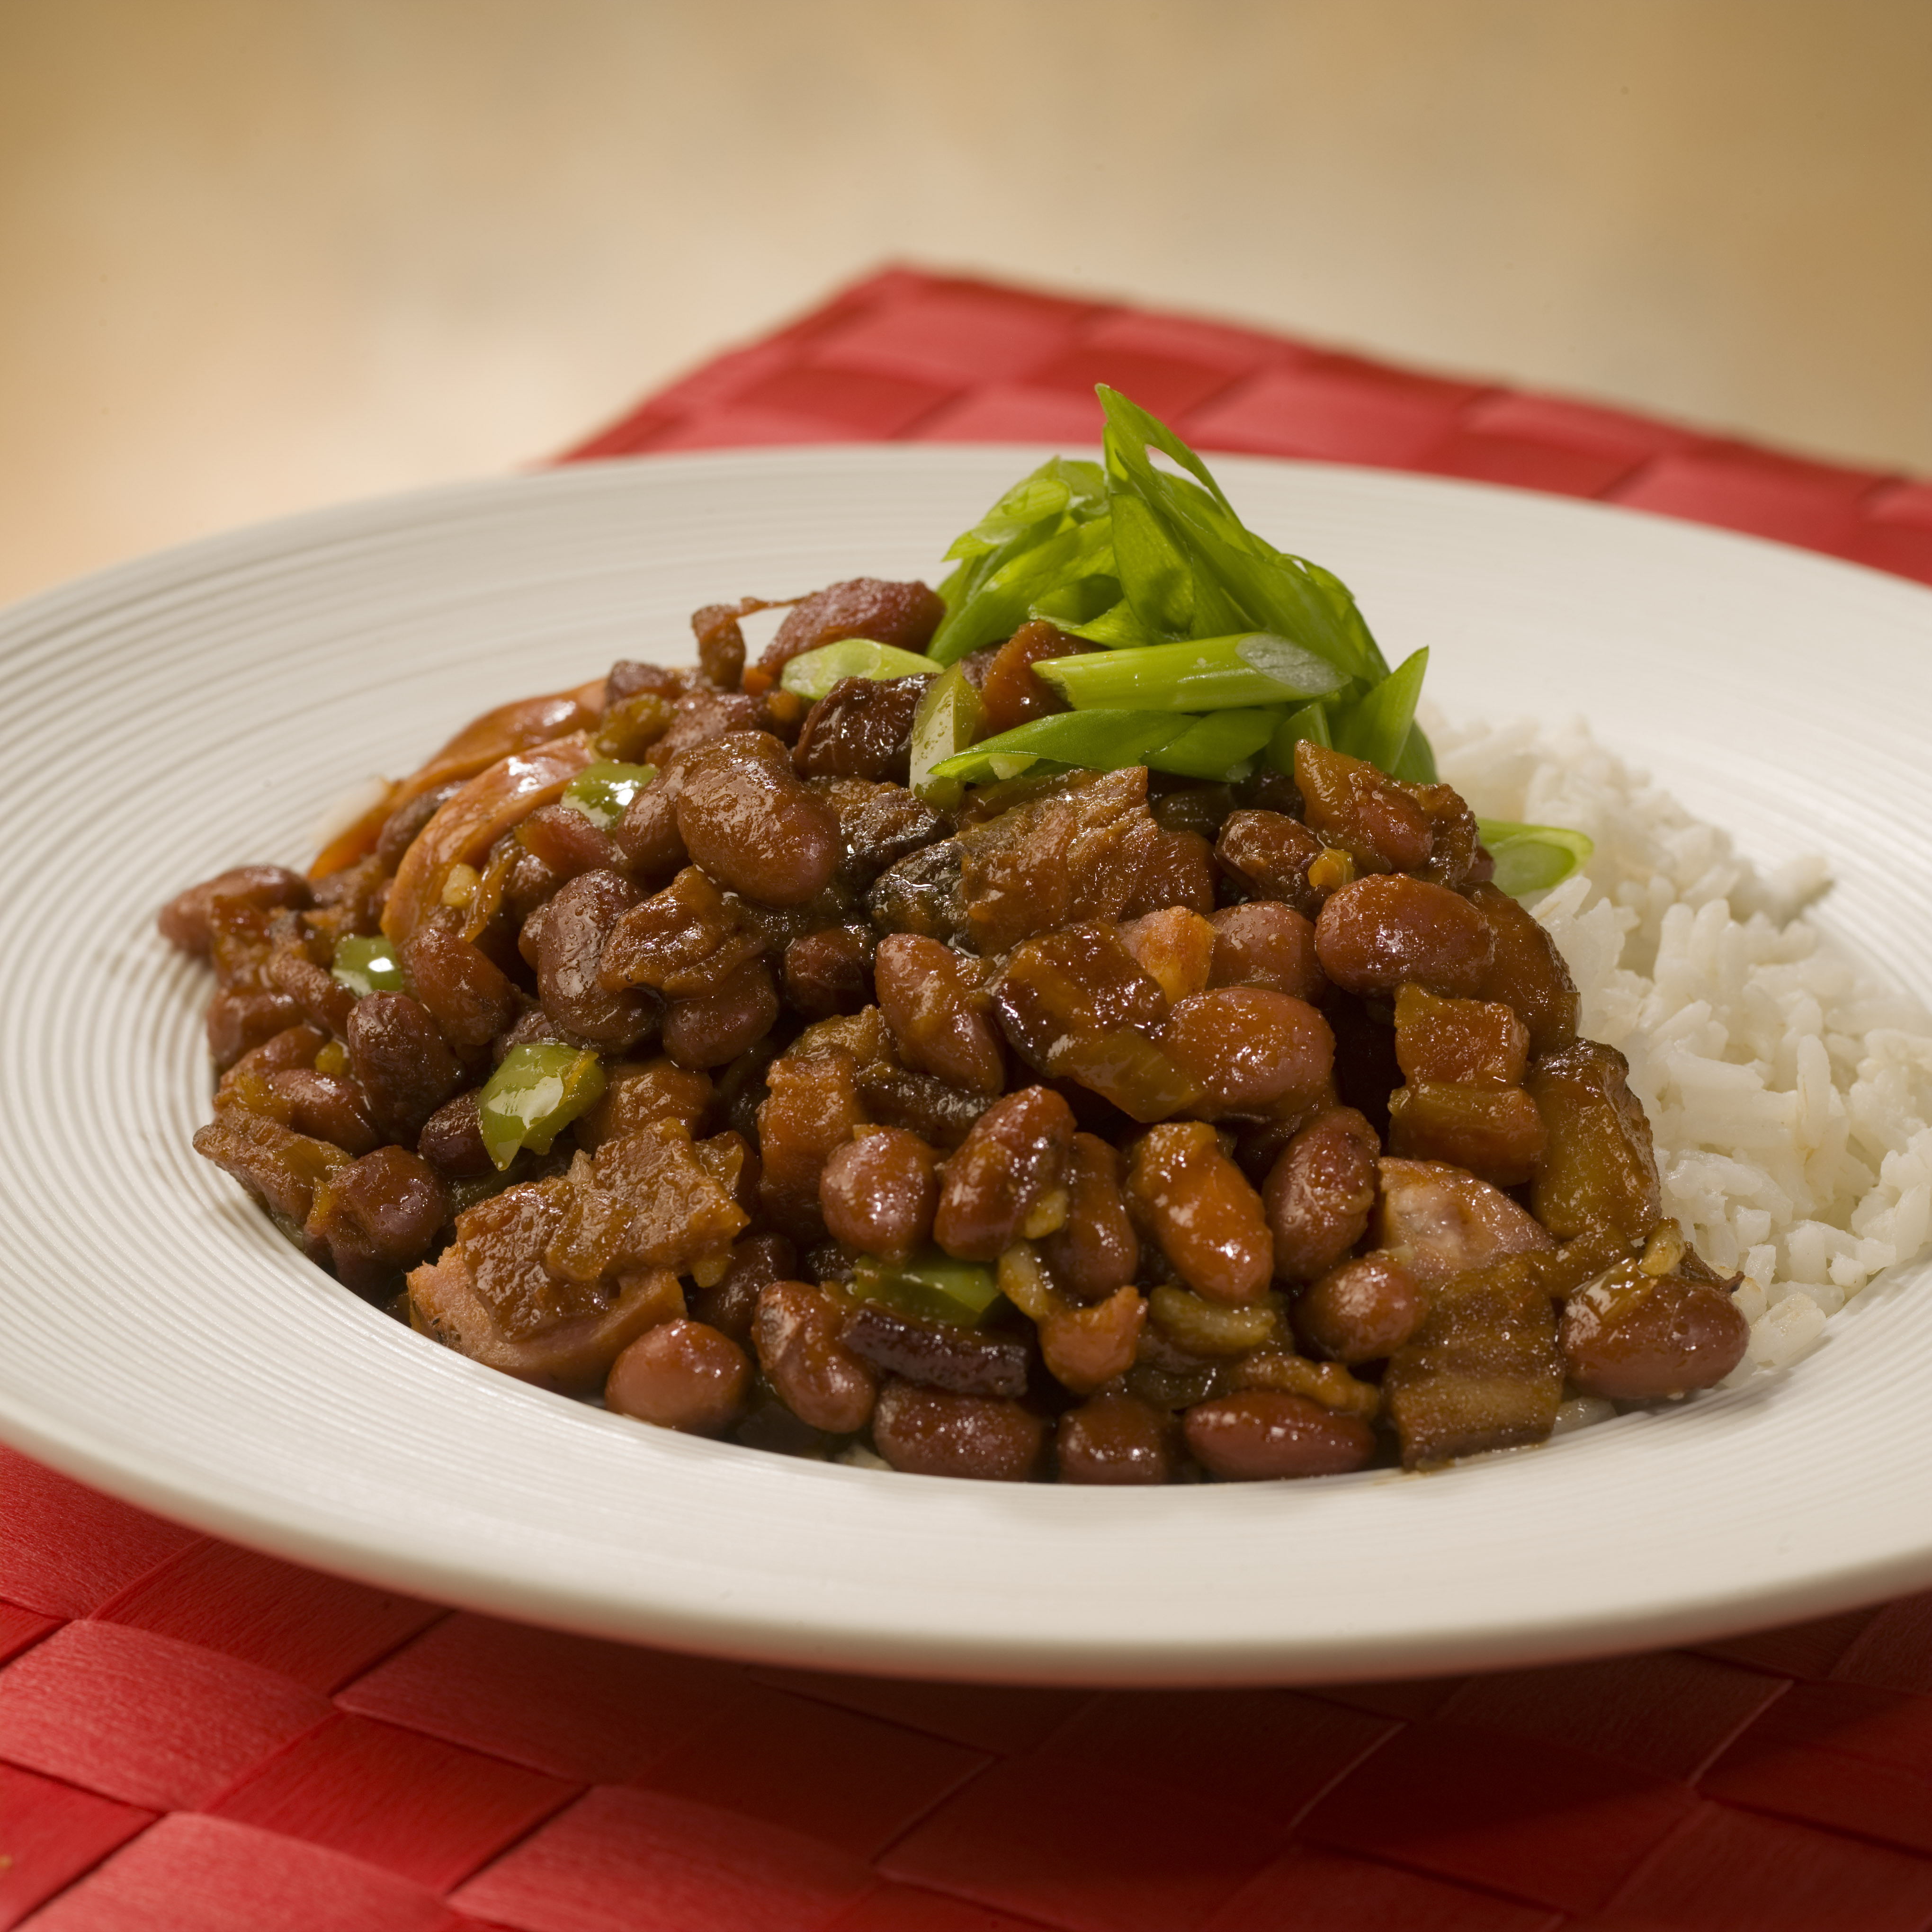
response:
M325 1569L744 1658L1055 1683L1447 1671L1710 1636L1932 1582L1932 1302L1795 1372L1447 1474L1092 1492L813 1466L585 1410L415 1339L189 1150L180 887L471 713L684 655L744 591L931 572L1037 452L670 458L242 531L0 618L0 1432ZM1932 993L1932 595L1683 524L1217 464L1455 715L1584 711ZM1893 883L1897 881L1897 883Z

